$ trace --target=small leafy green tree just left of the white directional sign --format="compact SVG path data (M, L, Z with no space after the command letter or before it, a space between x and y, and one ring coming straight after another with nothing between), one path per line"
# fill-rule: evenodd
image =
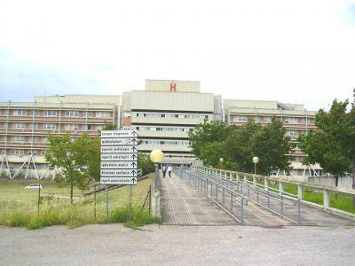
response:
M91 139L83 133L73 139L67 133L63 137L50 135L49 140L45 160L51 167L60 168L64 182L70 184L70 201L73 203L74 185L84 190L92 176L99 176L99 138Z

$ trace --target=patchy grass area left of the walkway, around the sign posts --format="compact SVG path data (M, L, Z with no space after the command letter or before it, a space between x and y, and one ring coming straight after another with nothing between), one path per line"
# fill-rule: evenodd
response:
M152 177L152 176L151 176ZM97 194L96 215L94 211L94 197L81 198L70 204L70 200L59 199L58 194L46 194L41 198L40 211L37 210L37 192L26 192L24 184L36 183L34 180L12 183L12 180L2 181L0 186L0 224L5 226L26 227L38 229L51 225L66 225L75 228L90 223L123 223L125 226L137 229L149 223L160 223L160 219L149 214L147 206L142 209L146 192L152 184L152 178L142 180L132 187L132 212L130 214L129 186L108 192L109 217L106 220L106 192ZM54 186L48 183L47 187ZM45 186L43 185L43 191ZM66 190L67 187L59 188ZM52 188L54 191L55 188ZM17 194L16 194L17 192ZM15 195L12 195L15 193ZM43 192L41 192L43 193ZM16 196L17 195L17 196ZM147 204L147 203L146 203Z

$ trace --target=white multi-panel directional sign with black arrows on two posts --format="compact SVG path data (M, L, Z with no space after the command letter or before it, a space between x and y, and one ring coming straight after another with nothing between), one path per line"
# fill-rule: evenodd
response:
M101 131L100 184L106 184L108 219L109 184L137 184L138 134L136 130ZM130 186L130 213L132 188ZM131 214L130 214L131 216Z

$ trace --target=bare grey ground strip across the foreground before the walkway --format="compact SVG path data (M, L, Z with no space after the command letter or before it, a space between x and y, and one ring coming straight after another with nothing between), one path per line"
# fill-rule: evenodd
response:
M355 265L355 228L0 226L1 265Z

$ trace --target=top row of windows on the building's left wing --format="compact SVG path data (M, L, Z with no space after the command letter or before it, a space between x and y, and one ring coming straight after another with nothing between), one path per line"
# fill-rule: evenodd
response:
M7 113L5 113L7 114ZM16 116L33 116L33 110L13 110L13 115ZM35 110L35 116L38 116L38 110ZM56 117L59 116L59 111L56 110L43 110L44 117ZM79 111L65 111L65 117L98 117L98 118L108 118L110 116L109 112L98 111L98 112L79 112Z

